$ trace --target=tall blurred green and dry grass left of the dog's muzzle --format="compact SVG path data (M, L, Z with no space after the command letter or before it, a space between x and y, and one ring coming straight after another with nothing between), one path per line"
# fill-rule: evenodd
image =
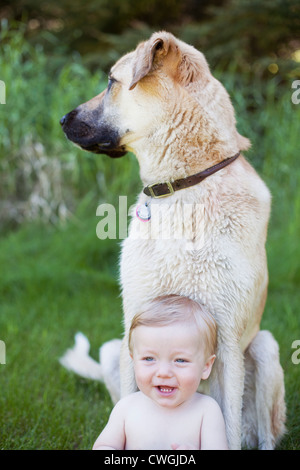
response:
M103 199L108 188L127 194L136 186L132 156L117 165L106 156L87 154L64 137L59 124L64 114L106 87L105 74L91 73L79 55L63 64L48 60L41 46L24 40L22 30L3 28L0 49L6 84L6 104L0 106L0 229L11 225L10 213L18 223L37 211L45 216L46 207L47 220L56 220L62 202L73 210L88 193L88 198ZM53 199L60 200L50 207ZM12 200L14 208L7 206ZM39 207L25 207L29 200Z

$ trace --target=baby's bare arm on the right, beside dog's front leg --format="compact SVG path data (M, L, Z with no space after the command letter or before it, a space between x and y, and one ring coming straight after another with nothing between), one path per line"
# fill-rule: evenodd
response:
M215 400L208 398L201 426L201 450L228 450L221 408Z

